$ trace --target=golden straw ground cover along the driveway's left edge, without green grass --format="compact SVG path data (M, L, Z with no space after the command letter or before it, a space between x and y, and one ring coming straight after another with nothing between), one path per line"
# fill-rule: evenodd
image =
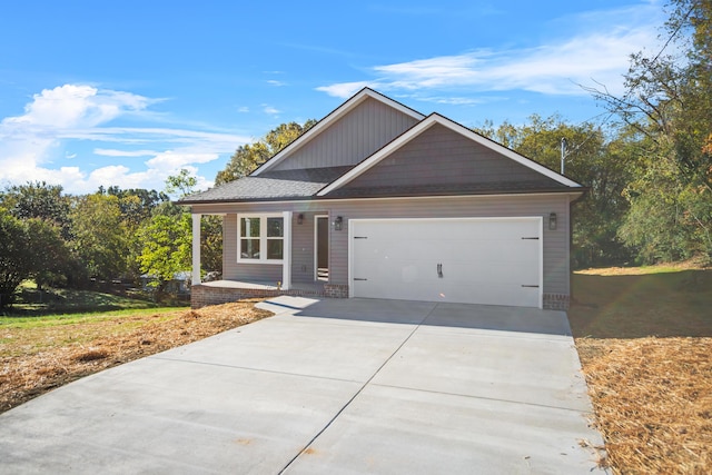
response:
M273 315L255 308L256 301L259 300L168 315L117 317L59 326L49 333L40 329L32 342L32 348L38 349L28 345L31 329L6 329L3 334L10 338L4 339L6 348L0 354L0 413L83 376ZM89 335L88 342L82 333ZM42 340L37 342L38 338ZM17 347L9 347L7 342L14 339Z

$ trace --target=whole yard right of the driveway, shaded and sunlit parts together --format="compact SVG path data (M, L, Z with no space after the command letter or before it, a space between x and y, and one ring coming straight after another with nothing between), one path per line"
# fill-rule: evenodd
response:
M613 472L710 473L712 269L591 269L572 286L568 318Z

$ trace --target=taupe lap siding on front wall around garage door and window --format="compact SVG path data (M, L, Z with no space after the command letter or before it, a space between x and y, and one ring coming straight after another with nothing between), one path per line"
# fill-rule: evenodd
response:
M310 281L314 278L314 215L328 215L329 222L342 216L343 230L329 226L329 283L348 285L348 220L397 218L484 218L524 217L544 218L544 294L570 295L570 200L567 194L510 195L487 197L441 197L408 199L344 199L309 202L264 202L194 206L194 212L225 212L224 278L228 280L281 280L280 265L237 263L238 212L305 214L305 222L293 224L293 279ZM555 212L557 229L548 229L548 216ZM306 276L300 271L306 266Z

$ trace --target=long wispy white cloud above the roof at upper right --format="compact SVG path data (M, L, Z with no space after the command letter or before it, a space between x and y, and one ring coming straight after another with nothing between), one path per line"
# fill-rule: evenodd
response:
M657 44L655 4L635 9L591 11L576 18L567 38L551 39L538 47L502 50L478 49L459 55L374 66L373 80L318 87L329 96L348 98L365 86L384 91L486 92L525 90L546 95L589 95L580 85L606 85L622 90L622 75L630 55ZM439 95L438 95L439 96ZM461 93L462 96L462 93ZM462 100L452 98L447 101Z

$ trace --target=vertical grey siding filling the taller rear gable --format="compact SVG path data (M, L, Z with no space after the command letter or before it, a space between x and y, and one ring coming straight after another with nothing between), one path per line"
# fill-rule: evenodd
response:
M356 165L416 122L413 117L368 98L273 170Z

